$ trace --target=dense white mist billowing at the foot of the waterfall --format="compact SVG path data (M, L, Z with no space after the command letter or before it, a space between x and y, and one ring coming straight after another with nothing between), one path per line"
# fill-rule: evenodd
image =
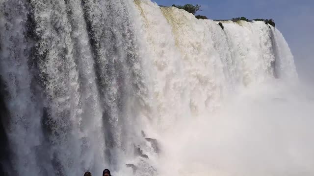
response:
M312 176L314 94L271 82L164 134L162 170L183 176ZM171 169L170 169L171 168Z

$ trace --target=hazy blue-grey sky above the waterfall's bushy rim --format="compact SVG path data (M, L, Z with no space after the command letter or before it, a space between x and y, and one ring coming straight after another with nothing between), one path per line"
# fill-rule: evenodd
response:
M314 0L153 0L159 5L200 4L209 19L272 18L283 33L300 76L314 82Z

